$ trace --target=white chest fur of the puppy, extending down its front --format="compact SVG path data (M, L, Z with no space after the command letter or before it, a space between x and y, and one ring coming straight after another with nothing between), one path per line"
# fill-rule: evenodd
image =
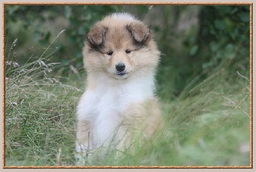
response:
M98 81L101 82L93 90L86 90L81 97L77 120L93 124L93 143L102 146L109 144L129 104L154 96L154 75L112 82Z

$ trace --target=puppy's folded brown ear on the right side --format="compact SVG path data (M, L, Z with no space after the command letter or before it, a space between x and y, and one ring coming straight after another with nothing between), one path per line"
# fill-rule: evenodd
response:
M126 28L138 43L147 43L152 37L150 29L142 22L131 22Z

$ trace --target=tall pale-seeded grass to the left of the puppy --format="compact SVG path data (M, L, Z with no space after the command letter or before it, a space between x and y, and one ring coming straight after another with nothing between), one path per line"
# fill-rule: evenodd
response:
M54 165L60 148L72 157L70 145L75 139L74 116L81 90L52 74L58 63L51 63L50 47L42 56L31 56L31 62L19 65L13 51L16 42L6 59L5 163Z

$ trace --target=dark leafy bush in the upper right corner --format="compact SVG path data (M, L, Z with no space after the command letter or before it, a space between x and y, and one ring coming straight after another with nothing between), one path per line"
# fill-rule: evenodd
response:
M250 6L204 6L198 44L191 47L191 56L203 50L198 52L204 53L202 68L214 68L235 57L236 61L245 58L241 54L249 53L249 22Z

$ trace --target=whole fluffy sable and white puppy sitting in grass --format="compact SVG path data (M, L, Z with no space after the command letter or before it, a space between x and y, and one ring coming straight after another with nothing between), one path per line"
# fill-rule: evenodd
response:
M161 123L154 95L160 52L152 31L127 13L95 23L83 48L87 86L77 106L76 151L124 150Z

